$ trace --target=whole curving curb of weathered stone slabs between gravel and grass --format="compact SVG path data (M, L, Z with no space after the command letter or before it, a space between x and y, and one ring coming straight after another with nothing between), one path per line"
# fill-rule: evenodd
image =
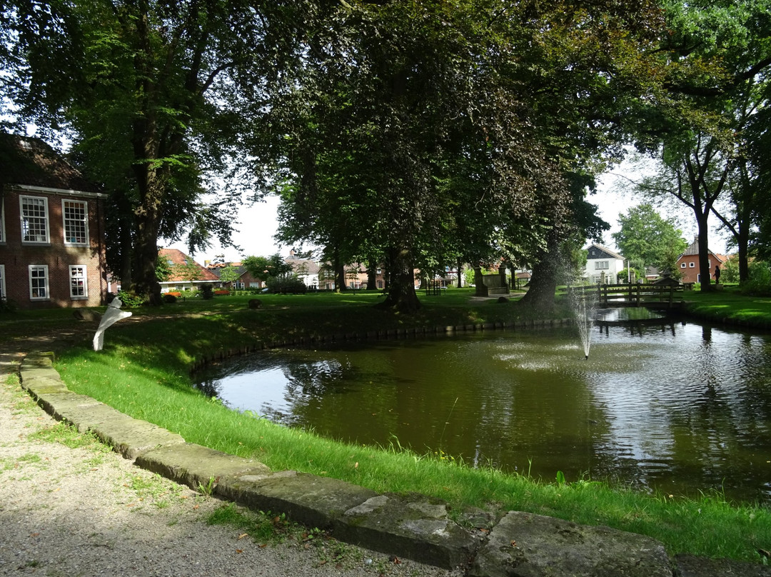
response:
M249 508L285 513L332 531L338 540L470 577L769 577L753 563L678 556L654 539L607 527L510 511L494 522L474 512L449 516L445 501L421 494L377 494L329 477L271 472L259 461L187 443L85 395L72 393L49 353L22 361L22 386L57 420L90 431L134 463L190 488ZM466 526L467 525L467 526Z

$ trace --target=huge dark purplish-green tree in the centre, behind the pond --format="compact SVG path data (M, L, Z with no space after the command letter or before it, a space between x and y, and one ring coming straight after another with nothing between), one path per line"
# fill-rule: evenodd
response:
M621 111L646 89L653 8L342 3L271 103L292 234L379 249L385 305L402 310L419 305L416 266L491 248L550 262L594 226L572 175L614 154ZM554 295L554 275L540 278L539 304Z

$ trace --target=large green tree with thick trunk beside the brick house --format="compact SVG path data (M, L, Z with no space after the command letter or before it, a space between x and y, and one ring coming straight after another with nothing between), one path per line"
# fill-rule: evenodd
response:
M227 214L200 204L204 174L224 166L241 113L293 36L281 2L10 2L0 5L5 93L20 122L67 128L115 187L116 241L133 244L133 288L160 303L160 235L193 245ZM280 22L280 23L279 23ZM275 32L274 24L279 28ZM291 27L290 27L291 31ZM96 158L106 162L99 164ZM233 158L237 158L233 155ZM126 245L123 245L126 248Z

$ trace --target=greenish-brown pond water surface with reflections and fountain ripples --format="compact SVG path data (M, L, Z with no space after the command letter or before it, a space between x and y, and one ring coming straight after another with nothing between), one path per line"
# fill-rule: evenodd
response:
M553 479L771 500L771 339L697 324L487 332L241 357L200 387L319 434ZM530 465L530 462L532 465Z

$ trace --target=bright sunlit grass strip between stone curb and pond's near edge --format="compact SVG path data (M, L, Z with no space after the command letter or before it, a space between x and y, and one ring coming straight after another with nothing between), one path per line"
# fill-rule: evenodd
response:
M172 340L171 337L167 339ZM359 484L378 492L443 498L456 511L479 507L501 513L532 511L590 525L650 535L669 552L759 560L771 542L771 513L750 504L727 504L720 495L688 499L649 495L607 484L545 483L450 460L440 450L419 454L394 439L388 447L337 442L306 430L281 427L252 413L237 413L194 390L169 359L146 366L146 345L103 353L72 350L56 363L72 390L181 434L186 440L242 457L272 470L293 469ZM152 367L152 368L150 368Z

